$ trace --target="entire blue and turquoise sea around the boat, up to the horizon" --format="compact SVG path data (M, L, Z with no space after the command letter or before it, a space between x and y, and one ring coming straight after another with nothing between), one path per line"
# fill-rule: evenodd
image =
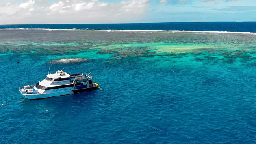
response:
M0 28L1 144L256 143L256 22ZM72 28L252 33L50 30ZM70 58L86 61L50 73L92 71L102 89L24 100Z

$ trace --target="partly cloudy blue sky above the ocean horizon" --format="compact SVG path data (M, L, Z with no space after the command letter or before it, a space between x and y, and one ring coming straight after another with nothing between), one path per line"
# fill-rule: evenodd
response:
M256 21L256 0L1 0L0 24Z

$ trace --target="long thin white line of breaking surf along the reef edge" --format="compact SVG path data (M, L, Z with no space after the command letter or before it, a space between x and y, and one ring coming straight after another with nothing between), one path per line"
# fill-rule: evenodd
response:
M50 29L50 28L3 28L0 30L55 30L55 31L126 31L126 32L173 32L173 33L231 33L231 34L247 34L256 35L253 32L239 32L239 31L187 31L187 30L95 30L95 29Z

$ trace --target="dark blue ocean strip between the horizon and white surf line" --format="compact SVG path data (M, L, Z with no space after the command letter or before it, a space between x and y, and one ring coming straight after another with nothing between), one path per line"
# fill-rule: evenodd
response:
M18 24L0 25L2 28L47 28L89 30L187 30L256 32L256 22L166 22L137 24Z

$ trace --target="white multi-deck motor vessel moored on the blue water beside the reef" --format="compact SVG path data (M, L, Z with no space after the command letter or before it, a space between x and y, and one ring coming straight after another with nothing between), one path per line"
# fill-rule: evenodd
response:
M20 93L26 98L40 99L53 96L63 96L98 89L98 84L93 83L90 74L72 74L58 70L54 74L48 74L43 81L36 85L26 85L20 88Z

